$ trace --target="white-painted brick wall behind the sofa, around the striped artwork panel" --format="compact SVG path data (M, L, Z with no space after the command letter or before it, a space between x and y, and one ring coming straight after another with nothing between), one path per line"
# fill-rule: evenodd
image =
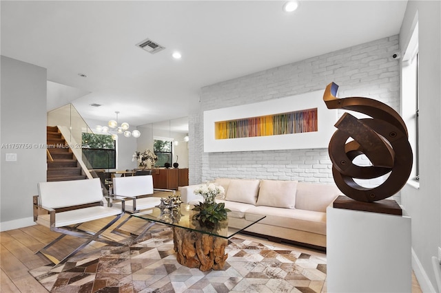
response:
M203 153L203 111L324 90L334 81L338 96L365 96L400 109L398 36L267 69L203 87L201 111L190 117L189 182L216 177L334 182L327 149Z

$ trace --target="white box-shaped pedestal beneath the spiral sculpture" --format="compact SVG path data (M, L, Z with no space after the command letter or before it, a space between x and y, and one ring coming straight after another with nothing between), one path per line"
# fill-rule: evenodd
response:
M411 218L402 212L327 208L327 292L411 292Z

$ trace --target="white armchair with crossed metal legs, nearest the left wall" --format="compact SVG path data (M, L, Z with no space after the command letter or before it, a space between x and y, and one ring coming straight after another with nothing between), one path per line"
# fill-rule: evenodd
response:
M101 241L114 246L124 245L111 239L105 239L101 235L101 233L125 214L125 210L124 201L121 202L121 206L119 207L110 207L104 204L99 178L91 180L40 182L38 184L38 190L39 195L34 195L34 221L62 235L36 253L41 252L45 257L48 257L50 261L58 265L68 261L69 257L79 252L79 250L87 246L91 241ZM41 213L42 210L43 213ZM81 224L87 221L106 217L113 218L98 232L80 229ZM48 252L48 248L66 235L81 237L87 240L66 257L59 260Z

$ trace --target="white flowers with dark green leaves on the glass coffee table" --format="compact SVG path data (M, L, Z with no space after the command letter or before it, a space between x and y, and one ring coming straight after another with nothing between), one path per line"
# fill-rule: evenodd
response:
M194 194L202 195L204 202L196 204L193 208L198 212L193 216L193 219L199 221L201 226L208 228L214 228L219 221L227 219L227 212L231 212L228 208L225 208L225 203L216 203L216 197L224 198L225 189L215 183L201 184L194 190Z

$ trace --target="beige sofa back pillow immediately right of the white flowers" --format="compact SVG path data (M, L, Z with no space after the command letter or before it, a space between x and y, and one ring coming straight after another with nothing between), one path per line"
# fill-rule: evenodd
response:
M229 180L228 192L225 199L232 202L256 205L260 180Z

